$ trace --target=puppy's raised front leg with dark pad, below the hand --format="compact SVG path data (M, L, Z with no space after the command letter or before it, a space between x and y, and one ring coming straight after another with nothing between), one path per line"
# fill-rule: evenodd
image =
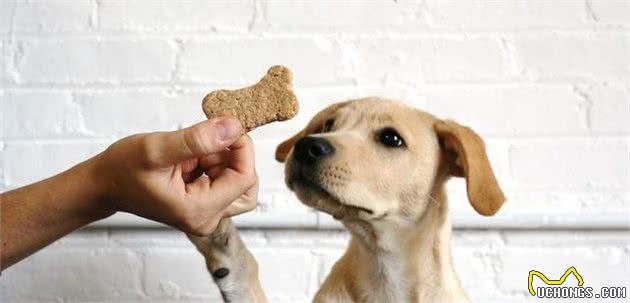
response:
M245 247L229 218L222 219L208 237L188 235L206 259L212 279L226 303L266 303L258 280L258 263Z

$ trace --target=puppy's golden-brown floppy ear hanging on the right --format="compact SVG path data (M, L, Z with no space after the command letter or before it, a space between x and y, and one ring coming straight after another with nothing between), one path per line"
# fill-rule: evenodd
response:
M484 216L494 215L505 202L492 172L483 140L472 129L444 120L434 125L448 173L466 178L468 200Z

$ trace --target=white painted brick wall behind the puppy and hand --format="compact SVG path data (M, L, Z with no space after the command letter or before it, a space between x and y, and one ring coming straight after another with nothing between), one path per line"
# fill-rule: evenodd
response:
M366 95L486 138L510 203L482 218L449 185L477 302L531 302L531 269L630 286L628 0L2 0L0 58L0 190L190 125L207 91L290 66L301 112L254 132L260 206L238 218L273 302L307 302L347 240L285 189L274 147ZM216 300L181 233L155 227L118 216L76 232L4 272L0 301Z

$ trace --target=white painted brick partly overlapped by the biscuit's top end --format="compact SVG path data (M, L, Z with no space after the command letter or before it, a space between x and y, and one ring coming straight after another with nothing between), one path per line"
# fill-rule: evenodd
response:
M183 44L178 79L243 85L272 65L286 65L294 83L333 84L343 79L338 43L325 38L195 39Z

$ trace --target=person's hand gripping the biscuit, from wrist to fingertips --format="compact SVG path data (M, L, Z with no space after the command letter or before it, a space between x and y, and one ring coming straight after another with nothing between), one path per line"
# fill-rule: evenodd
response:
M174 226L210 234L223 217L256 207L254 147L233 118L173 132L130 136L95 157L105 203Z

